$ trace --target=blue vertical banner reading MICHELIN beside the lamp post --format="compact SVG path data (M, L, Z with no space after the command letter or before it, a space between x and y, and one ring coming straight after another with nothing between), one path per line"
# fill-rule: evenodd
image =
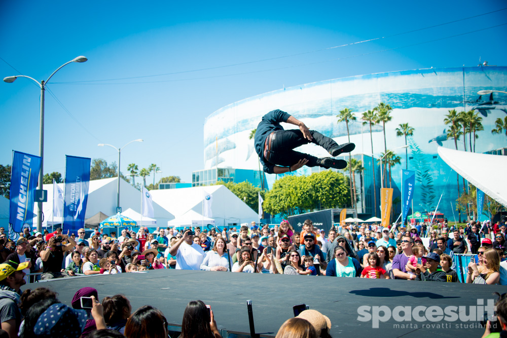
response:
M33 202L41 170L41 158L20 152L13 153L9 223L14 232L19 233L23 224L31 225L35 216Z

